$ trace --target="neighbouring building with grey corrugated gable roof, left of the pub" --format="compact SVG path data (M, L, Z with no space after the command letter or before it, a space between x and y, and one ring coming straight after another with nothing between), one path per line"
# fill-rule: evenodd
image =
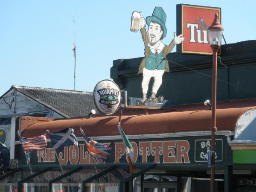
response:
M87 116L92 109L92 92L12 85L0 96L0 142L11 149L9 169L17 169L15 117L62 119Z

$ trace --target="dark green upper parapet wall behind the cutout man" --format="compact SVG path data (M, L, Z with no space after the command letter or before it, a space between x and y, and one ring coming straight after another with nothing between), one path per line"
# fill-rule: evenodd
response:
M157 96L169 99L172 105L204 102L212 97L212 55L167 55L170 73L163 75ZM113 61L111 78L128 97L142 97L142 75L137 75L142 58ZM256 98L256 40L221 46L218 59L217 101ZM189 67L190 69L188 69ZM196 70L196 71L195 71ZM202 74L204 73L204 74ZM151 95L151 79L148 97Z

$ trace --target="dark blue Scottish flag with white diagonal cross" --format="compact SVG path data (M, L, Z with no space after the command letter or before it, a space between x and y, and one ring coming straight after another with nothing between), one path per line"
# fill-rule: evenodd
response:
M46 130L52 141L53 148L59 148L69 145L78 145L76 135L73 128L66 128L59 132L49 132Z

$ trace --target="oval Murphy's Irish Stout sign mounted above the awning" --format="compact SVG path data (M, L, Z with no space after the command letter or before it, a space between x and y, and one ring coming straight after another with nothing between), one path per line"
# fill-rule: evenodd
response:
M97 109L101 113L111 115L120 106L121 91L113 81L102 80L96 84L93 90L93 99Z

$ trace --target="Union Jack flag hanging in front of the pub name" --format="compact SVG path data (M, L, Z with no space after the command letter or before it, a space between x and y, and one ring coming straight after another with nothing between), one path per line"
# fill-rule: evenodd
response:
M90 154L96 159L98 163L102 164L103 162L105 162L111 152L112 147L109 147L102 143L98 143L97 141L91 140L89 137L86 137L81 127L80 131Z

